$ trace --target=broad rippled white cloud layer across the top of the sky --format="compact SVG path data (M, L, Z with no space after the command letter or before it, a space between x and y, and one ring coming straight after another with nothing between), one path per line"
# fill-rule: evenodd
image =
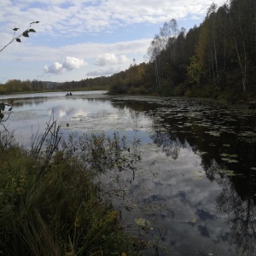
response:
M212 0L157 1L127 0L119 1L34 1L20 0L15 5L3 4L0 17L11 26L14 22L26 24L27 20L40 20L42 30L53 36L70 37L74 34L113 31L116 27L138 23L163 23L172 18L185 19L192 14L204 16ZM222 5L224 0L215 0ZM125 12L124 12L125 9ZM19 19L17 20L17 17ZM29 21L30 22L30 21ZM193 25L192 25L193 26ZM39 31L38 30L38 31Z

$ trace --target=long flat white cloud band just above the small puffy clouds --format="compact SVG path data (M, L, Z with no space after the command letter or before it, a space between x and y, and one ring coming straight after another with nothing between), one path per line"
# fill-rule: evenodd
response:
M63 56L86 56L86 60L93 59L93 63L96 62L98 57L104 56L105 53L115 52L115 57L119 60L119 63L127 63L128 58L136 58L136 55L145 55L147 49L152 41L152 38L142 38L140 40L131 40L124 42L114 42L109 44L104 43L77 43L66 44L59 47L54 46L42 46L31 44L33 38L25 38L26 41L22 41L22 44L14 43L4 50L5 58L8 61L15 61L17 57L22 58L22 61L47 61L55 62L55 60L61 60ZM58 61L62 63L61 61ZM67 61L68 62L68 61ZM84 66L87 63L84 62Z

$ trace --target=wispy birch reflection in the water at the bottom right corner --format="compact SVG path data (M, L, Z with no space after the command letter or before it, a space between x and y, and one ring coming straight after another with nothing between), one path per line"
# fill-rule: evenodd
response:
M207 173L212 173L215 181L222 188L216 197L216 208L225 215L225 223L230 226L230 243L235 244L237 250L253 255L256 252L256 207L253 201L253 188L249 185L244 188L247 195L244 198L238 194L234 185L237 176L224 176L219 172L221 167L215 160ZM239 177L241 179L241 177Z

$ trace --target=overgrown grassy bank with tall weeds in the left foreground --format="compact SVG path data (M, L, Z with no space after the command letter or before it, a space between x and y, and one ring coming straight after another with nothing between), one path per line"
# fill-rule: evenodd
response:
M126 170L139 160L114 134L70 136L55 122L25 150L0 132L0 254L139 255L140 241L126 236L119 211L102 197L102 172Z

